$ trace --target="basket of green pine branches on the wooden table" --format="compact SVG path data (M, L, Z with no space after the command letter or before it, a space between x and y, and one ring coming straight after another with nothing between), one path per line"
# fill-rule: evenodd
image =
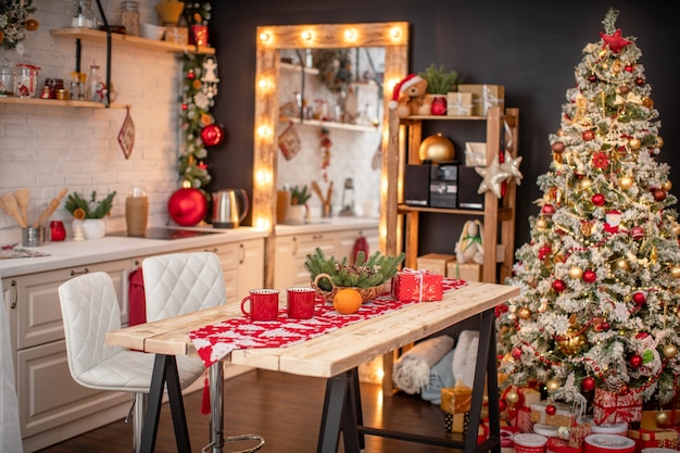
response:
M356 253L354 264L348 257L338 261L335 256L326 257L320 248L307 254L304 267L310 272L312 286L326 301L332 301L341 288L356 288L366 302L382 292L386 281L390 280L404 261L402 252L398 256L387 256L379 251L366 260L363 251Z

